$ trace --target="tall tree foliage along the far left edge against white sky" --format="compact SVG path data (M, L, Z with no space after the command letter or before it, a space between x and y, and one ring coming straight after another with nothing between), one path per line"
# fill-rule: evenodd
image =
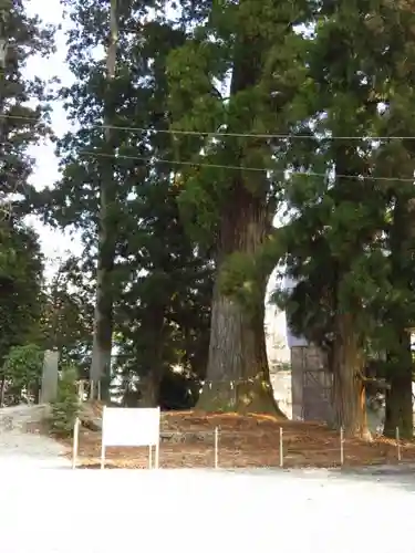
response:
M3 2L4 3L4 2ZM0 363L10 348L39 343L43 255L38 234L24 222L32 210L29 148L50 134L45 83L28 79L31 56L53 50L53 29L30 17L22 0L7 1L0 39ZM6 39L6 40L4 40ZM3 387L4 392L4 387ZM18 398L15 399L18 400Z

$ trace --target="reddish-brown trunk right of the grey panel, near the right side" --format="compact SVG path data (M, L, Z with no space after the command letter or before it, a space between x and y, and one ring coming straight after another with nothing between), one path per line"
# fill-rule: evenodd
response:
M370 438L366 421L364 356L355 333L353 315L336 315L333 343L333 407L338 428L344 436Z

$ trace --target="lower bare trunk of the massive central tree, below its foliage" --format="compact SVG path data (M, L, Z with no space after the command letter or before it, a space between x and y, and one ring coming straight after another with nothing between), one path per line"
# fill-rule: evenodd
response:
M268 275L258 286L258 302L247 310L221 290L224 262L232 253L258 254L268 229L267 206L239 188L222 217L220 254L214 290L206 382L197 408L207 411L284 415L274 400L266 349L264 294Z

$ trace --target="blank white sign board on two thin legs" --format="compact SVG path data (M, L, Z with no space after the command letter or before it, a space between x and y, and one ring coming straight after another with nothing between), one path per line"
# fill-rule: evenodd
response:
M105 447L152 447L156 448L158 465L158 445L160 434L160 409L104 407L102 414L102 466L105 462Z

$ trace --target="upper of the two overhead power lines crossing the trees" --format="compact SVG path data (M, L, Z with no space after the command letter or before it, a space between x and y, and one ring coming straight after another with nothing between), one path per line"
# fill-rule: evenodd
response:
M0 115L0 118L11 118L11 119L22 119L33 123L40 123L39 118L24 117L23 115ZM132 133L154 133L154 134L169 134L169 135L187 135L187 136L212 136L212 137L234 137L234 138L259 138L259 139L294 139L294 140L415 140L415 136L373 136L373 135L361 135L361 136L319 136L319 132L315 135L293 135L293 134L271 134L271 133L226 133L221 131L186 131L186 129L175 129L175 128L152 128L152 127L133 127L123 125L105 125L105 124L94 124L90 125L89 128L102 128L112 131L126 131Z

